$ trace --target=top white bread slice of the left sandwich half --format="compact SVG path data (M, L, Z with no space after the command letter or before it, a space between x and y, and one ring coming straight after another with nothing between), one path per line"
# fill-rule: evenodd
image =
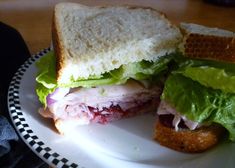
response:
M154 9L76 3L56 5L52 33L58 83L155 61L174 52L182 40L179 29Z

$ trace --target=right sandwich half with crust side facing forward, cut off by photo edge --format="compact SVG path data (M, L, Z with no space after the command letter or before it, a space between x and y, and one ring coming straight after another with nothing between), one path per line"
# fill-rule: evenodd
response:
M154 139L189 153L235 141L235 33L182 23L183 41L165 81Z

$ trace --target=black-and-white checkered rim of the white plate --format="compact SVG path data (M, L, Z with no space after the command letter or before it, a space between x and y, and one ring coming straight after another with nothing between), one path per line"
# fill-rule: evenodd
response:
M77 168L80 166L70 162L68 159L62 157L59 153L52 151L50 147L48 147L38 138L38 136L27 124L24 113L20 106L19 90L20 82L24 76L24 73L34 62L36 62L40 57L49 51L50 48L47 48L33 55L23 65L21 65L21 67L15 73L8 90L8 109L12 122L21 138L38 156L40 156L47 163L50 163L52 167Z

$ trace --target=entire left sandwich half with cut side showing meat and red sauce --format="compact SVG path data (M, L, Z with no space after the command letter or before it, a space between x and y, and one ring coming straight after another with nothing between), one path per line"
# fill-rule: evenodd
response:
M182 34L152 8L59 3L37 62L39 113L59 133L156 111Z

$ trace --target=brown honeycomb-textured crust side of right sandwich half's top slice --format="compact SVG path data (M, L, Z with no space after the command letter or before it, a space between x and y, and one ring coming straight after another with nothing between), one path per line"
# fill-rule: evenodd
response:
M190 34L184 48L185 55L190 58L235 63L235 37Z

